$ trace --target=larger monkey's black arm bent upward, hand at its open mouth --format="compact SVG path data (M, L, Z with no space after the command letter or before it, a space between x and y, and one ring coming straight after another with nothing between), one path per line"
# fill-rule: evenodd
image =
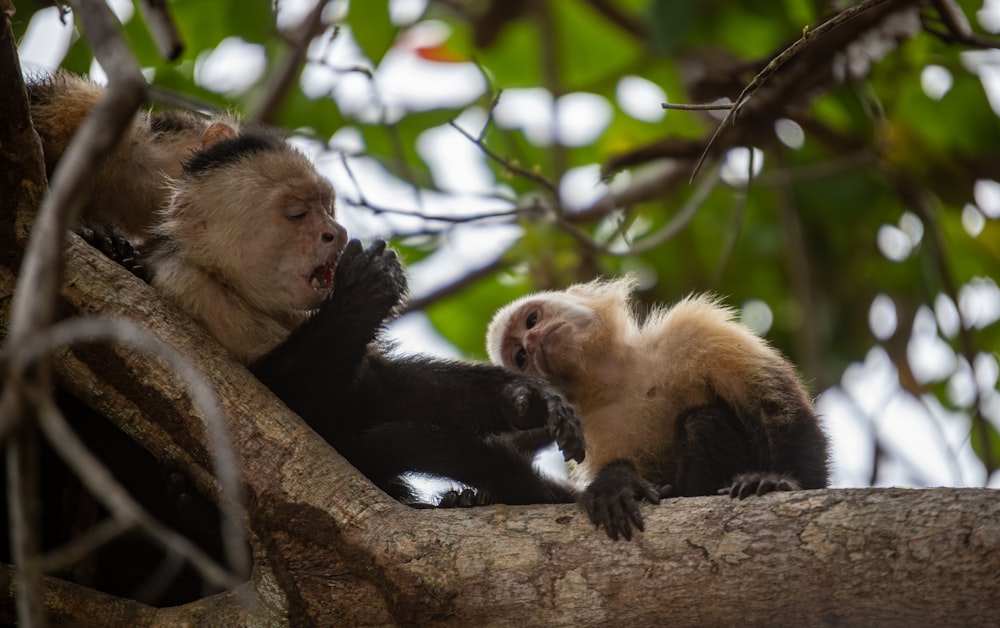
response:
M312 318L251 366L314 427L343 415L367 347L405 293L406 278L385 242L362 249L352 240L337 263L333 285Z

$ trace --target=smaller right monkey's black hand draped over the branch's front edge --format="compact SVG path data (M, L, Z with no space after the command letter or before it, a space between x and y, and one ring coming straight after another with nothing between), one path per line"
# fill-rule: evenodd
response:
M626 541L632 539L632 526L642 530L642 514L639 502L646 500L659 504L672 489L657 487L639 475L635 466L625 460L617 460L601 469L594 481L580 496L580 504L597 527L604 526L608 536Z

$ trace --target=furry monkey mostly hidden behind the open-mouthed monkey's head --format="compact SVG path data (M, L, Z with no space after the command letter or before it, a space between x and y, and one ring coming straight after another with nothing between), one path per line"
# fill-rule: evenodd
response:
M42 140L45 169L51 178L73 134L104 94L96 83L58 70L29 80L28 100ZM234 137L240 123L229 116L206 118L186 111L140 112L92 179L82 217L114 224L132 239L144 239L166 206L171 182L198 148Z

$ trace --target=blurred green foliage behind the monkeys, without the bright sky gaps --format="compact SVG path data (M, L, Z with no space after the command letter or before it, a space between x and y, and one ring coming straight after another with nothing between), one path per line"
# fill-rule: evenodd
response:
M15 28L20 35L36 7L19 4L23 6L18 6ZM473 135L482 130L484 146L498 157L487 160L496 179L495 194L521 208L536 206L541 199L543 210L522 213L523 235L505 253L500 270L427 308L436 327L462 352L483 356L486 322L495 308L516 296L596 274L631 271L644 278L642 298L651 303L671 302L694 290L717 291L736 306L750 299L763 301L774 317L768 337L801 366L817 393L835 385L848 364L883 344L905 390L915 395L928 391L945 407L955 406L941 382L915 381L906 347L919 307L933 308L941 294L958 300L973 280L991 282L989 278L1000 276L997 209L977 208L973 195L976 181L1000 179L1000 119L983 82L970 69L970 46L920 30L887 46L868 72L831 80L812 93L799 94L796 102L778 103L769 120L753 119L757 127L747 137L755 138L763 151L763 167L748 187L720 183L690 222L662 245L638 254L609 255L600 247L585 246L581 237L603 243L600 238L618 230L641 242L643 235L667 224L691 197L695 187L688 184L688 175L718 124L717 116L701 112L668 111L653 120L630 116L617 96L620 79L645 78L672 103L734 99L769 59L799 39L805 28L814 29L829 17L831 5L850 3L442 0L429 2L415 22L394 22L390 8L410 4L331 3L333 26L314 44L310 63L339 79L356 77L357 68L319 59L330 42L350 39L366 58L361 65L369 73L362 74L375 94L373 105L359 113L329 95L294 89L274 123L289 130L308 129L321 140L350 126L359 134L365 155L414 188L429 190L434 172L424 161L426 155L416 149L418 138L469 109L485 117L498 94L502 101L504 92L519 88L546 90L555 98L585 92L602 97L611 111L596 139L579 146L533 142L523 129L492 119L484 129L467 129ZM958 6L975 26L981 4L969 0ZM188 46L175 62L157 57L138 10L125 27L141 64L152 70L153 82L209 105L252 111L261 86L276 70L275 60L287 51L274 7L237 0L176 0L171 7ZM921 16L940 30L930 5ZM438 31L443 27L446 36L415 45L409 35L428 23ZM851 28L850 23L844 28ZM228 37L263 45L272 62L257 85L223 95L196 84L195 68L199 58ZM416 56L438 69L474 62L488 88L460 106L389 106L378 97L384 87L378 69L390 54ZM823 62L841 60L833 55ZM89 51L77 41L64 65L87 71ZM929 96L922 85L928 66L950 77L940 97ZM994 99L1000 102L1000 94ZM541 107L527 115L545 119L550 113L550 108ZM775 137L773 123L784 118L800 125L801 146L789 147ZM684 142L696 150L675 150L672 157L663 152L664 146ZM642 157L643 150L658 158ZM636 159L617 167L622 162L615 160L623 155ZM724 158L722 152L710 160L699 179L718 170ZM680 174L655 194L586 217L569 211L537 178L518 173L523 168L558 186L571 169L597 165L610 170L608 180L617 174L615 186L627 187L630 180L639 181L658 168L666 179L664 166L669 163ZM900 227L904 216L915 216L922 234L908 241L911 250L889 259L878 245L880 230ZM982 223L978 232L966 226L977 221ZM440 232L440 223L435 225ZM447 232L435 233L399 245L415 261L427 255L428 242L434 248L446 237ZM896 304L900 327L884 343L868 326L869 308L879 294ZM985 354L995 362L1000 325L992 321L965 335L939 335L958 356ZM996 382L991 386L982 391L984 405L997 394ZM996 407L1000 403L993 404L994 411ZM982 422L971 437L981 455L987 439L997 441L988 456L994 465L992 460L1000 457L996 431Z

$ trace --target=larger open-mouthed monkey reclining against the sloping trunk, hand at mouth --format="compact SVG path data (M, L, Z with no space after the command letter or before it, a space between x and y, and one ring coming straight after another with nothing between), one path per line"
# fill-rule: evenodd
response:
M81 235L199 321L376 485L401 476L472 487L442 506L571 502L535 472L529 447L583 459L579 419L542 379L491 364L399 357L379 332L406 293L399 259L375 242L344 248L329 185L274 136L244 131L184 164L153 237L133 247ZM517 434L518 447L506 444Z

